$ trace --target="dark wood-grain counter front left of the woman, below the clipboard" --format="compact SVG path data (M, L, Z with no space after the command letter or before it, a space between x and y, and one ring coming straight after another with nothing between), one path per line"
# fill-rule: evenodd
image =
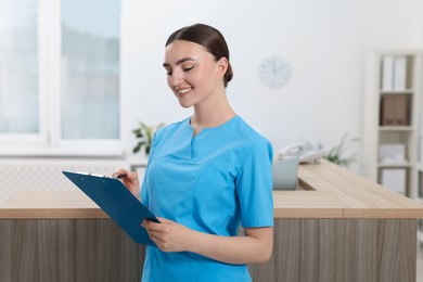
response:
M144 247L111 219L0 220L0 281L141 281Z

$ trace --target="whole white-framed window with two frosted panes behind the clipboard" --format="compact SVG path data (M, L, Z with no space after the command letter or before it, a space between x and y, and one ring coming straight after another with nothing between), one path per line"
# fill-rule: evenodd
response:
M119 0L0 0L2 144L16 154L121 152L119 23Z

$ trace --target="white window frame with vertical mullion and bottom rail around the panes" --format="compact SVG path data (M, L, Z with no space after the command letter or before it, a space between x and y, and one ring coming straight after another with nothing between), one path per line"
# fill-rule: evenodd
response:
M61 1L38 2L39 132L0 133L0 156L124 156L121 111L119 139L61 138Z

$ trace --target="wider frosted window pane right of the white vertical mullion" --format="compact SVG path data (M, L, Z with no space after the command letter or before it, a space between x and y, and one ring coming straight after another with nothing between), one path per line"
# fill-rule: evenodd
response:
M119 137L119 4L62 1L62 137Z

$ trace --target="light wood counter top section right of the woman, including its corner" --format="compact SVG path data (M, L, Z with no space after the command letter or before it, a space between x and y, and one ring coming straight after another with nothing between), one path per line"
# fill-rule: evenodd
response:
M423 218L422 204L328 161L298 170L307 194L274 191L275 218Z

